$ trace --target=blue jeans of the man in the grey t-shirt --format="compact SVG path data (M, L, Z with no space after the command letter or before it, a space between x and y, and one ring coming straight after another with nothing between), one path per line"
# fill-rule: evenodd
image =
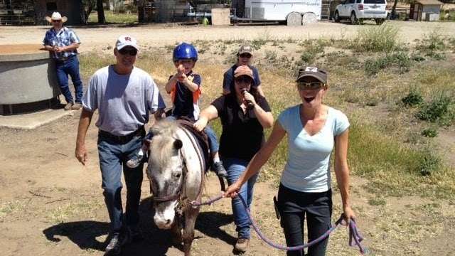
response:
M129 142L119 143L102 134L98 135L102 188L111 220L112 233L120 232L124 224L128 226L139 224L139 201L144 164L141 163L137 168L130 169L126 163L135 152L139 151L143 138L144 134L133 137ZM124 216L120 193L122 191L122 169L127 186L127 208Z

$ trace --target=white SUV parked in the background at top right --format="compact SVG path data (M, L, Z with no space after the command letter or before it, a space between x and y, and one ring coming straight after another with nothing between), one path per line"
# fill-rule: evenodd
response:
M352 24L362 24L365 19L374 19L380 25L387 18L385 0L345 0L338 4L333 14L333 19L340 22L341 19L349 19Z

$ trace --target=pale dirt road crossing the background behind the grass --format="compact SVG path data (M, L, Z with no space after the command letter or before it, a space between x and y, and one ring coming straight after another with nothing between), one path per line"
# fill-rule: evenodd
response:
M445 35L455 34L454 23L393 21L400 28L400 37L405 43L422 38L425 33L437 30ZM375 26L368 23L365 26ZM139 46L167 46L179 41L234 40L247 38L317 39L349 38L365 26L350 26L346 23L319 22L300 27L288 26L179 26L176 24L118 25L73 27L82 45L80 52L102 50L113 46L122 34L137 38ZM41 43L48 26L0 26L0 44Z

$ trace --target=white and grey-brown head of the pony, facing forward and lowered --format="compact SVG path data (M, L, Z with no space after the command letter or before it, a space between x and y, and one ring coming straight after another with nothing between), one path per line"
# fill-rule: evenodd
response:
M160 121L151 128L149 177L154 193L154 222L161 229L171 228L178 199L183 190L186 166L181 153L183 143L177 137L175 122Z

